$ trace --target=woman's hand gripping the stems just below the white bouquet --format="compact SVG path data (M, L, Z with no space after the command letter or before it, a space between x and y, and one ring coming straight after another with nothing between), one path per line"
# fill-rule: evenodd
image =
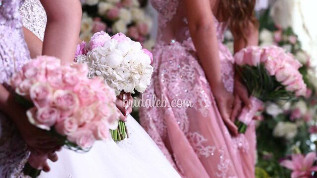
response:
M127 116L132 112L133 98L131 93L121 92L117 96L116 106L121 111L120 119L126 122Z

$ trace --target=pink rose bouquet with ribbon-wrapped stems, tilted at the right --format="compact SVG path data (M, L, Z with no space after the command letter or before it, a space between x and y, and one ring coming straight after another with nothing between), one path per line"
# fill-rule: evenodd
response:
M239 133L245 133L249 123L264 102L279 102L305 96L306 84L299 72L301 64L283 48L247 47L234 56L237 73L251 94L252 108L244 107L236 120Z

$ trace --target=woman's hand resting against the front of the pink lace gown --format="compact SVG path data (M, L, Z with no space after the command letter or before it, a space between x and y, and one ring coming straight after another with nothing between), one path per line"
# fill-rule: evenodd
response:
M213 89L212 92L215 96L215 100L224 124L227 126L229 132L232 135L238 135L237 126L234 124L232 120L230 120L234 102L233 95L230 92L228 92L224 87L222 87L221 89Z

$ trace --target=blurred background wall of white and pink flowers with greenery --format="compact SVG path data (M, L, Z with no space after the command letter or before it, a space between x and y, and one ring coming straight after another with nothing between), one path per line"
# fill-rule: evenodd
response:
M313 33L317 30L305 27L310 21L300 14L307 13L300 9L306 9L309 2L317 3L316 0L258 0L260 44L278 45L292 53L303 65L300 71L309 90L306 97L292 102L266 103L263 119L257 123L257 178L311 175L311 169L317 165L312 159L317 140L317 50L314 51L317 38L314 40ZM82 4L82 40L89 41L93 33L103 30L111 35L124 33L148 49L155 44L156 12L146 0L82 0ZM232 51L230 32L225 33L225 44ZM138 100L138 94L135 99ZM132 115L138 119L138 108L133 109Z

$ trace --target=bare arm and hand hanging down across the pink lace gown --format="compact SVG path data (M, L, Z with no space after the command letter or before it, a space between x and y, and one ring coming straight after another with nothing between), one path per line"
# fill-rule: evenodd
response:
M231 134L237 135L238 129L230 120L234 97L225 89L221 79L219 47L211 9L214 0L184 0L184 3L190 34L223 122Z

